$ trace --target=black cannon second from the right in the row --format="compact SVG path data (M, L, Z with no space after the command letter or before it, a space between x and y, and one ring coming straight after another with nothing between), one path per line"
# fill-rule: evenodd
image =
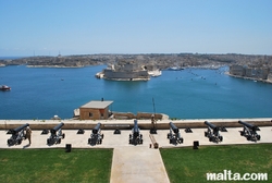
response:
M207 132L205 132L205 136L208 137L210 142L223 142L223 136L219 134L220 127L208 121L206 121L205 124L208 125L208 130Z

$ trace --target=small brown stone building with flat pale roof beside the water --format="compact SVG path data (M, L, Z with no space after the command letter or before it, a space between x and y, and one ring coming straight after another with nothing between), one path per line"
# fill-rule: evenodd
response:
M113 101L89 101L79 108L81 120L107 120L109 107Z

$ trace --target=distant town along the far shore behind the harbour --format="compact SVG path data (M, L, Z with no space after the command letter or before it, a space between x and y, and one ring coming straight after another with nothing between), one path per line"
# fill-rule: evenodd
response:
M149 54L81 54L37 56L13 60L0 60L0 66L25 64L33 68L83 68L89 65L114 65L129 61L145 65L147 70L169 68L218 69L230 66L228 74L258 81L272 82L272 56L256 54L202 54L202 53L149 53Z

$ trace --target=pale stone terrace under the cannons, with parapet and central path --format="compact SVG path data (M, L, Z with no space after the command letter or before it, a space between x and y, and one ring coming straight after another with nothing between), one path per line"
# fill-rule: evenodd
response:
M256 123L260 126L258 133L261 135L261 139L257 143L272 143L272 122L271 119L240 119L250 123ZM246 137L240 136L239 131L243 130L242 125L238 124L238 119L227 119L227 120L207 120L212 123L221 124L226 127L227 132L221 132L223 136L223 142L215 144L209 142L205 137L205 131L207 130L202 125L206 120L183 120L173 121L180 127L182 137L184 138L183 144L171 145L166 138L169 130L163 130L163 126L169 126L170 121L159 121L158 126L161 130L157 131L153 135L159 147L161 148L175 148L175 147L193 147L194 141L199 141L199 148L203 145L230 145L230 144L256 144L255 142L249 142ZM63 148L65 149L66 144L72 145L73 148L113 148L113 160L111 170L111 183L122 183L122 182L170 182L168 174L165 172L164 164L162 162L159 149L150 148L151 139L149 137L149 130L141 130L144 143L143 145L129 145L128 135L133 126L133 120L125 121L71 121L62 120L64 126L62 132L65 133L65 138L62 139L61 144L48 146L47 138L49 134L41 135L41 130L48 126L54 126L59 121L33 121L33 120L1 120L0 121L0 148ZM88 138L91 134L91 129L98 123L102 123L102 133L104 134L101 145L90 146L88 144ZM33 144L28 146L28 141L23 141L21 145L8 146L7 141L10 138L10 134L7 134L7 130L11 126L18 126L25 123L29 123L33 129ZM79 127L77 124L81 124ZM118 124L118 126L116 126ZM138 120L139 126L146 129L150 125L149 120ZM196 125L197 124L197 125ZM265 124L264 126L262 124ZM42 125L42 127L40 127ZM185 133L185 126L194 126L193 133ZM46 127L46 129L47 129ZM66 129L65 129L66 127ZM73 129L74 127L74 129ZM107 130L103 130L107 129ZM114 129L121 130L121 134L113 134ZM87 129L84 134L77 134L77 129ZM137 163L136 163L137 162Z

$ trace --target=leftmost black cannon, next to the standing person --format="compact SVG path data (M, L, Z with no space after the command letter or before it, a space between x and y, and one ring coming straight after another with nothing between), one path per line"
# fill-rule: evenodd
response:
M26 127L29 126L28 123L18 126L16 129L12 129L10 130L10 133L12 134L12 136L8 139L8 145L12 146L12 145L20 145L22 143L23 139L25 139L25 130Z

